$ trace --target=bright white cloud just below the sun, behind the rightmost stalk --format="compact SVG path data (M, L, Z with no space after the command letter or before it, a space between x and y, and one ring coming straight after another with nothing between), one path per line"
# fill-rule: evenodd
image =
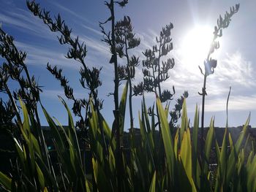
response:
M178 89L189 90L192 96L197 96L203 83L203 76L198 66L188 66L183 63L181 54L174 50L173 57L176 65L170 70L170 79L165 85L178 85ZM255 77L252 75L252 63L246 61L240 52L227 53L225 58L217 58L218 64L214 74L208 76L207 91L219 95L226 93L225 88L232 85L233 89L255 86ZM210 92L209 92L210 93Z

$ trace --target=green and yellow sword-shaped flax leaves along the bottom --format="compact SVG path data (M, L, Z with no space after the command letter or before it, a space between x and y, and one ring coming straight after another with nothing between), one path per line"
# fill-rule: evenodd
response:
M126 94L125 94L126 93ZM124 91L124 95L127 92ZM72 120L72 115L67 104L61 99L69 115L69 126L63 128L61 124L54 122L48 112L45 118L54 136L54 144L58 155L59 169L47 166L43 159L42 150L37 142L37 137L32 133L33 124L29 118L26 105L20 100L23 109L23 122L19 123L20 131L24 142L15 141L18 153L17 172L18 174L8 177L0 174L1 185L9 191L117 191L116 174L116 139L111 137L108 123L102 115L98 116L91 103L89 115L89 132L91 136L91 154L93 165L93 177L83 169L81 161L80 147ZM142 142L139 145L132 145L129 149L129 158L124 152L122 155L121 190L122 191L255 191L255 166L256 156L254 150L245 156L245 149L248 142L242 145L246 139L246 129L249 118L244 124L243 131L236 142L233 142L228 128L219 147L214 134L214 120L211 120L210 128L206 136L206 145L203 149L204 157L197 155L197 130L198 116L197 107L195 110L194 127L192 133L187 119L186 100L183 104L181 117L181 127L177 129L175 135L170 134L167 121L168 111L164 110L161 101L157 98L159 118L162 124L162 142L164 144L164 159L159 159L157 142L154 140L154 123L150 123L147 114L146 104L143 101L142 112L139 115L140 133ZM100 136L97 122L101 118L105 131L106 142L108 143L108 156L104 156L102 149L104 143ZM152 118L152 117L151 117ZM29 120L30 119L30 120ZM151 119L151 122L154 122ZM192 135L192 136L191 136ZM131 136L131 142L134 137ZM217 154L216 172L209 169L209 158L212 145L215 143L215 153ZM46 145L46 144L45 144ZM227 145L230 150L227 150ZM201 162L200 162L201 161ZM201 164L201 166L200 166ZM211 175L211 177L209 177ZM200 179L203 177L203 183ZM212 179L214 178L214 180Z

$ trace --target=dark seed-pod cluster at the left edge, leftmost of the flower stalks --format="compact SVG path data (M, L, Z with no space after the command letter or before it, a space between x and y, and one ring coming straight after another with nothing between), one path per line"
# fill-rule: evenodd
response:
M0 28L0 55L5 60L0 68L0 91L7 93L10 101L12 101L5 104L2 101L1 104L9 109L16 109L17 115L18 108L15 101L21 98L26 103L28 110L35 112L39 101L39 92L42 90L34 76L30 77L29 75L25 64L26 53L15 47L14 38L7 35L2 28ZM10 79L18 82L18 88L13 93L8 87ZM12 104L12 107L9 106L10 104Z

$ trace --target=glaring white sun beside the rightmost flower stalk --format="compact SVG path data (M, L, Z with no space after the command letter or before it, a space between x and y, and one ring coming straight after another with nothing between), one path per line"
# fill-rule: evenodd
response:
M181 63L190 72L198 72L198 65L202 66L206 59L213 38L212 28L209 26L195 26L181 42Z

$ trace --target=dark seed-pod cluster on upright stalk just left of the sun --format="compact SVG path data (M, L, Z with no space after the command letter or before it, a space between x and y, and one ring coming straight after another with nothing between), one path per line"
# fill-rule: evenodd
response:
M146 57L143 60L143 82L135 85L133 90L135 95L141 95L144 91L155 92L159 95L162 102L173 99L174 91L171 93L168 90L161 91L161 83L167 80L170 69L173 69L175 64L174 58L167 58L167 61L160 60L173 50L172 39L170 38L173 24L170 23L162 28L159 37L156 37L157 45L152 49L146 49L143 55ZM174 89L173 89L174 90Z

